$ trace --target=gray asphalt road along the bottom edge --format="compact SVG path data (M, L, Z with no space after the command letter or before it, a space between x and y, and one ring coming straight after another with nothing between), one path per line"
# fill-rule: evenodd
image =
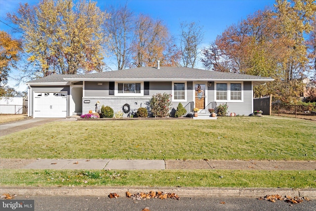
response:
M181 197L175 199L133 200L125 196L17 196L18 200L35 200L35 211L315 211L316 200L301 204L276 203L256 198ZM7 200L8 201L8 200Z

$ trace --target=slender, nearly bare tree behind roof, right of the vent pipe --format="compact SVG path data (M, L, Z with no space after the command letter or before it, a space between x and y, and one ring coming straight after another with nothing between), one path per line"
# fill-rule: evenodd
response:
M180 48L184 67L195 67L199 54L198 45L202 41L203 29L196 22L180 24Z

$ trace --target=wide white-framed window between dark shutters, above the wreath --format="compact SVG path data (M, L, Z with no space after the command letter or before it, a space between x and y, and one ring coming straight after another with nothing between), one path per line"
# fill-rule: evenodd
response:
M144 82L115 82L114 91L115 96L143 96Z

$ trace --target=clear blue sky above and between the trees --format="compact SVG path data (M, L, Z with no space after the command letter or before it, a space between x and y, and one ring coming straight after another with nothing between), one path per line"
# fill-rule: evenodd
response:
M19 2L30 5L37 4L39 0L0 0L0 20L8 23L5 19L7 12L15 12ZM273 7L275 0L97 0L97 5L104 10L109 5L119 6L127 3L129 9L135 14L148 14L153 18L162 20L177 39L180 23L186 21L197 22L203 27L204 41L200 47L207 46L216 39L228 26L245 19L247 15L254 13L266 6ZM14 26L13 26L14 27ZM11 28L0 22L0 30L6 31L12 37ZM197 68L201 68L197 64ZM18 71L13 71L13 75ZM10 80L9 85L17 90L25 90L25 84L14 86Z

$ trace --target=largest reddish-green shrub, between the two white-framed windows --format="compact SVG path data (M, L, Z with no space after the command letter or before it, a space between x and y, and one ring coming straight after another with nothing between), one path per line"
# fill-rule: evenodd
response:
M171 105L171 94L158 93L150 99L150 108L154 117L167 117Z

